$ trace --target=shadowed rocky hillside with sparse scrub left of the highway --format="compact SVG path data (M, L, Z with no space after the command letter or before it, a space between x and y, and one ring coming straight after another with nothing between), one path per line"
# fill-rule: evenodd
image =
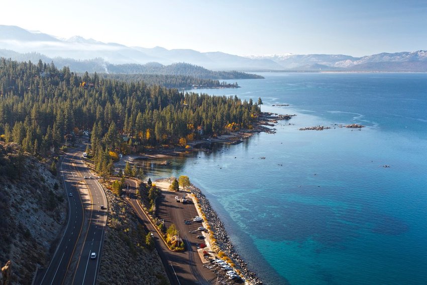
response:
M12 261L12 284L31 284L49 263L68 207L60 184L45 164L0 142L0 264Z

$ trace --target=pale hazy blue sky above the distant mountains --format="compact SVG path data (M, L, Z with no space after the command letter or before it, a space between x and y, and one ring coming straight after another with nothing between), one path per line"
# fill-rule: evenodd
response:
M427 49L427 1L24 0L0 24L127 46L237 55Z

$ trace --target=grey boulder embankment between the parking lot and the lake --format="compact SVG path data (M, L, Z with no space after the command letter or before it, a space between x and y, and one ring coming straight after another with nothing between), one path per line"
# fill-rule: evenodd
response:
M156 181L171 183L173 179L173 177L169 177L157 179ZM257 274L247 268L247 263L234 250L234 246L230 241L223 222L218 217L217 212L212 209L209 201L201 192L201 190L193 184L190 184L190 186L187 187L187 190L190 191L197 198L198 204L202 212L206 216L207 222L210 226L210 230L213 233L213 237L217 240L217 245L220 250L223 251L226 256L232 259L236 269L240 270L248 284L262 284L263 282L257 277Z

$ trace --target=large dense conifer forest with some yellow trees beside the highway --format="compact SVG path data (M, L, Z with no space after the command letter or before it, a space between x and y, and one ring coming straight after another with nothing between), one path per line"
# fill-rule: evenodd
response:
M259 106L237 97L188 93L143 81L82 76L41 60L0 59L0 134L24 151L46 153L91 132L92 153L160 144L248 128ZM110 155L111 156L111 155ZM103 163L103 162L102 162Z

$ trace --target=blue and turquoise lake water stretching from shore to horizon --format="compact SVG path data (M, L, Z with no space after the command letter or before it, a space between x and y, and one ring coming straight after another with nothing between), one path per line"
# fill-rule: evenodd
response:
M425 284L427 74L263 75L197 91L296 117L147 175L188 175L266 284Z

